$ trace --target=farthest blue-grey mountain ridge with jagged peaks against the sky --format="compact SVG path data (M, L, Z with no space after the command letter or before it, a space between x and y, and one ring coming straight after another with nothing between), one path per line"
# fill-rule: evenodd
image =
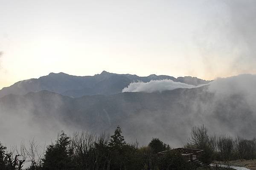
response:
M81 97L84 95L111 95L122 92L132 82L169 79L176 82L199 85L207 84L209 81L192 77L174 78L167 75L149 75L139 77L130 74L114 74L103 71L94 76L73 76L65 73L50 73L38 79L19 81L12 86L0 90L0 97L9 94L25 95L28 92L40 92L47 90L70 97Z

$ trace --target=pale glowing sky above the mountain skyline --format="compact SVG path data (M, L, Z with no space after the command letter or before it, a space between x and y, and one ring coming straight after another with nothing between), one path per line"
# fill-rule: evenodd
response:
M50 72L256 74L255 0L0 0L0 89Z

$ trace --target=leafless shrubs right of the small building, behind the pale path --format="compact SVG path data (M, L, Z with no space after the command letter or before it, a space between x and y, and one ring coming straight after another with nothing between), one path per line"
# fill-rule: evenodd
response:
M210 164L213 160L228 162L237 159L256 158L256 139L232 138L228 135L209 135L206 127L193 127L191 138L184 147L203 149L201 161Z

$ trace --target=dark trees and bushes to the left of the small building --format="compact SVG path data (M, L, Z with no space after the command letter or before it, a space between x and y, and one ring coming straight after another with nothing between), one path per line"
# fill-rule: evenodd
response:
M181 167L189 167L179 153L157 156L158 152L170 150L170 146L158 138L153 138L145 147L139 148L138 142L128 144L119 126L111 136L80 131L69 137L61 132L43 152L40 152L43 147L34 140L28 148L22 146L23 154L13 157L13 153L1 145L0 170L21 170L25 161L30 162L26 170L186 170Z

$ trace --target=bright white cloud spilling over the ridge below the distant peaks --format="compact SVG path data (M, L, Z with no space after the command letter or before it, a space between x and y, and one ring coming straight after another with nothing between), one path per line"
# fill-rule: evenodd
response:
M147 83L136 82L129 84L128 87L122 89L122 92L162 92L165 90L173 90L179 88L195 88L196 86L175 82L172 80L151 80Z

